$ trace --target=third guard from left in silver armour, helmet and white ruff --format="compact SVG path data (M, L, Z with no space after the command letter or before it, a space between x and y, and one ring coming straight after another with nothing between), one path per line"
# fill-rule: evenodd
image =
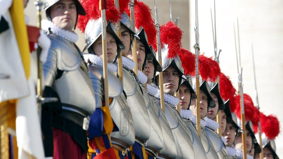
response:
M125 46L130 46L126 50L131 50L134 37L137 39L135 30L131 25L130 18L127 14L121 16L121 33L122 28L130 33L130 44L123 41ZM132 61L128 56L129 51L122 52L122 63L123 63L123 80L124 80L124 91L127 96L127 102L130 107L134 129L135 129L135 144L133 145L133 153L136 150L142 150L147 145L146 141L150 138L150 118L148 115L148 106L150 105L150 100L144 92L144 89L140 87L139 79L137 75L133 72L135 67L135 62ZM146 100L146 101L145 101ZM136 149L135 149L136 148ZM143 150L145 151L145 150ZM137 155L137 153L135 153ZM139 156L142 158L142 156Z

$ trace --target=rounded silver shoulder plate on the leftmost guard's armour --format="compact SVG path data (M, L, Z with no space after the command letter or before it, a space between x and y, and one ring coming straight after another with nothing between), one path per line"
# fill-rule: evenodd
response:
M57 53L57 68L63 71L73 71L81 66L82 58L79 50L65 39L49 34L53 41L50 49Z

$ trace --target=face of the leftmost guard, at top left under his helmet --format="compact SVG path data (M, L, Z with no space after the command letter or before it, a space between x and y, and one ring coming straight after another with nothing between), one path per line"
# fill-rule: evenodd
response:
M72 0L60 0L51 6L50 17L59 28L72 31L76 25L77 9Z

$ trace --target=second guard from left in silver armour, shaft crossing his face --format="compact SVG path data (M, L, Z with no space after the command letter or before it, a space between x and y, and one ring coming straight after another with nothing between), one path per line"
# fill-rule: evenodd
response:
M115 26L108 22L106 27L107 41L116 41L117 51L115 56L108 57L108 89L109 98L112 102L109 105L109 110L114 123L117 125L119 131L110 133L113 147L121 151L122 155L126 154L126 150L135 142L135 129L133 125L133 117L128 106L126 96L123 93L123 86L117 77L117 66L113 63L119 56L121 49L124 49L122 41L119 39ZM97 43L101 41L101 19L89 20L85 29L85 41L88 54L84 54L84 59L88 63L89 76L92 81L93 89L95 90L96 108L102 107L103 94L103 66L102 52L97 52L99 47ZM110 44L108 43L108 44ZM108 52L111 52L111 44L108 46ZM113 49L114 50L114 49ZM94 116L95 118L95 116ZM93 130L95 131L95 129ZM91 132L89 132L91 134ZM93 137L92 137L93 138ZM90 138L90 140L92 140Z

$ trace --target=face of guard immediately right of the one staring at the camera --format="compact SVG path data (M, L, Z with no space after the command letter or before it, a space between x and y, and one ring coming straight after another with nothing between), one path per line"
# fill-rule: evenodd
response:
M179 88L180 95L180 108L188 109L190 100L191 100L191 92L187 85L182 84Z

